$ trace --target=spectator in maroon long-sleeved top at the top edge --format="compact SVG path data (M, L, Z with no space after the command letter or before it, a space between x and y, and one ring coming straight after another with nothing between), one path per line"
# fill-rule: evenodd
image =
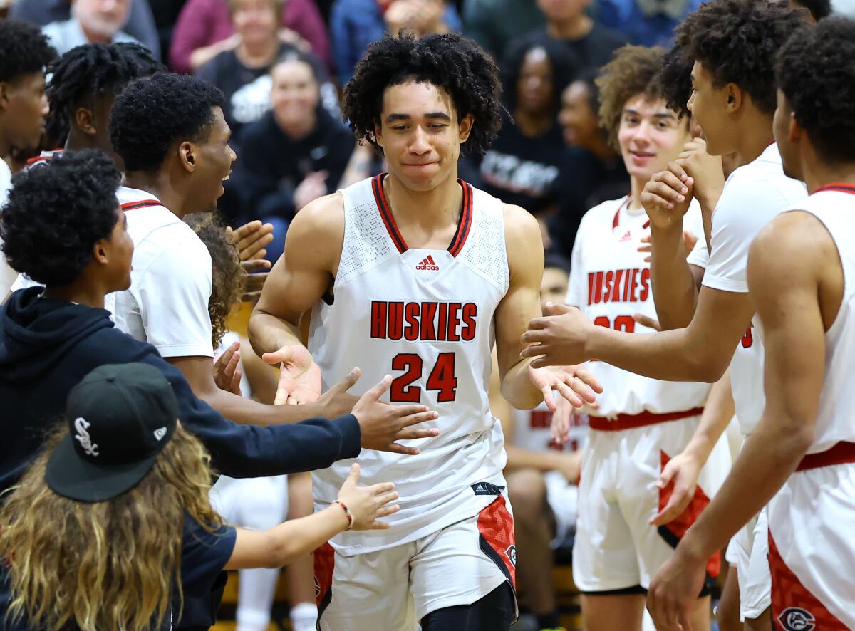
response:
M309 47L331 67L327 27L313 0L288 0L280 8L280 38ZM175 24L169 64L175 72L192 73L238 40L227 0L187 0Z

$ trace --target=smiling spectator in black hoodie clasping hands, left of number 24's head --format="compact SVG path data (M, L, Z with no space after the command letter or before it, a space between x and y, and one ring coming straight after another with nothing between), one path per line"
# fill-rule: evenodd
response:
M274 225L268 260L285 247L293 216L335 191L356 143L321 107L316 68L303 53L287 53L271 72L273 109L245 130L233 180L245 192L245 209Z

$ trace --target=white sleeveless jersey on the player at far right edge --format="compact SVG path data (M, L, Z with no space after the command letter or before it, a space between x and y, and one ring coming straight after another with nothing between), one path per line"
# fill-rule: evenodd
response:
M817 410L817 430L808 453L833 447L840 440L855 442L855 388L852 365L855 363L855 186L822 186L799 203L823 222L843 266L843 299L834 323L825 333L825 376ZM759 318L757 318L759 320ZM755 328L763 335L758 321Z

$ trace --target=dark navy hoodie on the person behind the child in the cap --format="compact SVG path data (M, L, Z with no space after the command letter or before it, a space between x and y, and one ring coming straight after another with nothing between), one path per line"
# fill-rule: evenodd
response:
M148 363L172 384L179 418L208 448L214 469L235 478L324 469L360 451L353 415L328 421L260 428L224 419L196 398L179 369L152 345L121 333L109 311L42 298L44 287L15 292L0 307L0 492L17 482L56 427L68 391L92 369L107 363ZM223 575L224 577L224 575ZM0 568L0 616L9 594ZM224 581L208 597L186 598L176 628L208 628L215 622ZM27 628L26 626L14 628ZM0 628L3 626L0 618Z

